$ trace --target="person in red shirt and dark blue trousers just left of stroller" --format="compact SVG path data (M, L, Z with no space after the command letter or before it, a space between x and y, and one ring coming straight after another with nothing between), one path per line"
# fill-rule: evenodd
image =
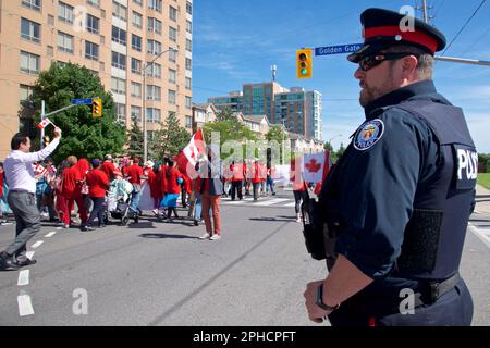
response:
M103 224L103 202L106 200L106 188L109 185L109 177L106 172L101 170L100 160L91 160L93 170L87 173L88 195L94 203L90 216L87 220L86 226L82 231L94 231L91 226L94 220L99 220L99 227L105 227Z

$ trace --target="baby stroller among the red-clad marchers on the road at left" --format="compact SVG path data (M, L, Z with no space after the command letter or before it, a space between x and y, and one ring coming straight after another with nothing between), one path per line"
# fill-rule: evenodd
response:
M122 178L114 179L106 195L106 223L109 221L109 214L112 219L118 219L121 224L125 226L130 219L134 219L138 223L138 212L133 212L131 209L131 201L133 192L133 185Z

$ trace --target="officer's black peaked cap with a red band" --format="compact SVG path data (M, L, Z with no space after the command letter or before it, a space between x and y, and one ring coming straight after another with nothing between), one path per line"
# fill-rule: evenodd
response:
M414 46L432 55L445 47L444 34L406 14L384 9L367 9L360 14L360 23L364 45L347 57L354 63L396 45Z

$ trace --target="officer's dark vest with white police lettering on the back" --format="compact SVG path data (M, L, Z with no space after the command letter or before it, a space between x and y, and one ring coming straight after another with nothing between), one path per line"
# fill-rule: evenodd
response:
M478 153L460 108L427 100L406 101L394 108L425 122L436 135L440 151L434 174L417 184L402 254L392 276L448 278L460 266L475 199ZM430 161L425 165L433 164Z

